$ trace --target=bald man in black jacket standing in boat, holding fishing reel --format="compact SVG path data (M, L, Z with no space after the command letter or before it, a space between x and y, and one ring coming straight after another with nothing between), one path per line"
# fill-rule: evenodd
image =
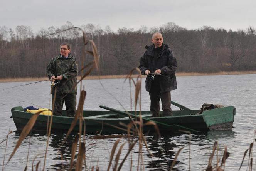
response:
M146 46L147 51L140 58L142 75L147 75L146 90L150 95L150 111L152 117L160 116L160 98L163 116L172 116L171 90L177 89L175 71L177 61L168 45L163 44L163 36L156 32L152 35L152 45ZM150 80L150 73L158 73Z

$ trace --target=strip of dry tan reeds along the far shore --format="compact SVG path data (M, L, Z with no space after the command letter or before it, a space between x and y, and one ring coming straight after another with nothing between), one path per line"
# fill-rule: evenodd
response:
M241 75L241 74L256 74L256 71L230 71L230 72L217 72L217 73L186 73L186 72L178 72L176 76L207 76L207 75ZM118 79L118 78L126 78L127 75L102 75L102 76L87 76L84 80L96 80L96 79ZM137 78L138 74L134 74L133 78ZM145 77L143 75L143 77ZM77 77L77 80L80 80L80 76ZM0 82L25 82L25 81L44 81L47 80L47 77L40 78L0 78Z

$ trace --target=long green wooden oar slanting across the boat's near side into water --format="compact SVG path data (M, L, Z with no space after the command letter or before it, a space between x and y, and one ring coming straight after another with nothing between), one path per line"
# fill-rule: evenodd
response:
M119 113L119 114L123 114L123 115L130 115L130 116L133 116L133 117L138 117L132 113L129 113L129 112L126 112L126 111L121 111L121 110L117 110L117 109L114 109L114 108L109 108L107 106L103 106L103 105L99 105L100 108L103 108L103 109L106 109L106 110L109 110L109 111L113 111L115 113ZM167 130L170 130L172 132L180 132L180 130L183 130L183 131L190 131L191 133L199 133L199 131L196 131L194 129L190 129L190 128L186 128L185 126L180 126L180 125L176 125L176 124L173 124L173 125L169 125L169 124L166 124L166 123L162 123L162 122L158 122L158 121L154 121L154 120L151 120L151 119L148 119L148 118L143 118L143 120L145 121L153 121L155 122L159 127L163 127Z

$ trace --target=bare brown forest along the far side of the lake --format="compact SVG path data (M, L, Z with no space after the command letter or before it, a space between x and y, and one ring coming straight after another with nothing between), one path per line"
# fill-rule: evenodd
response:
M79 68L93 61L90 55L84 56L79 29L60 32L71 27L72 23L66 22L61 27L41 28L33 33L29 26L20 25L15 30L0 26L0 78L46 76L46 67L59 54L62 42L71 43L71 55L79 61ZM178 72L256 70L256 33L252 27L238 31L209 26L188 30L168 22L160 27L141 26L138 30L123 27L117 32L109 26L103 29L93 24L80 28L98 48L100 75L128 74L138 67L145 45L152 44L154 32L161 32L164 43L173 50ZM91 46L86 48L90 50Z

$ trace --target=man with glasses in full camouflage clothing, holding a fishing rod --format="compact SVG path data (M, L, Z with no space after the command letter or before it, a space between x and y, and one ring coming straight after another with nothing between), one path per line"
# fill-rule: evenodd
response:
M67 110L67 116L76 113L77 94L77 59L70 55L70 44L61 43L60 55L52 58L47 66L47 75L56 85L51 88L53 115L62 116L63 103ZM55 96L55 103L54 102Z

